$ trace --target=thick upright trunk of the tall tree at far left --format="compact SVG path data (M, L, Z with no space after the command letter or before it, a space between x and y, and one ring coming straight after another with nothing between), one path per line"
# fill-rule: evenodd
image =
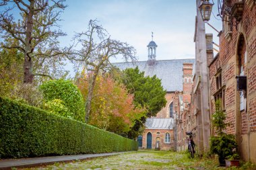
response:
M30 54L32 53L32 30L33 30L33 15L34 15L34 0L30 1L26 22L26 46L24 52L24 83L33 82L33 62Z

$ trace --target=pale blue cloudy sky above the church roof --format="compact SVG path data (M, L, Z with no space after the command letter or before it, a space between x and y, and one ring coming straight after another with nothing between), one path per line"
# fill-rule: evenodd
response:
M63 45L69 44L74 32L86 31L90 19L98 19L112 38L134 46L139 60L148 59L147 45L152 31L158 45L157 60L195 58L195 0L67 0L66 3L68 7L59 23L67 33L60 40ZM213 15L210 24L218 30L222 28ZM205 28L218 43L217 33L206 24Z

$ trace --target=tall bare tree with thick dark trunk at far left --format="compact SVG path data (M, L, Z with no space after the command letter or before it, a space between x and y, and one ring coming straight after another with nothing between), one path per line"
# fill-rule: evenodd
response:
M57 38L65 36L59 30L57 22L60 13L65 9L65 0L1 0L5 7L0 13L1 37L12 37L18 40L9 46L5 42L3 48L17 48L24 53L24 83L32 83L34 76L47 76L33 72L33 60L43 62L44 58L62 54ZM20 10L20 18L13 17L13 11ZM55 29L55 30L54 30Z

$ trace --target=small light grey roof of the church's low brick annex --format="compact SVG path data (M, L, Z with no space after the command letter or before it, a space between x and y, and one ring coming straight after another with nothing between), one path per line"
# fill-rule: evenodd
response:
M172 129L173 118L147 118L146 129Z

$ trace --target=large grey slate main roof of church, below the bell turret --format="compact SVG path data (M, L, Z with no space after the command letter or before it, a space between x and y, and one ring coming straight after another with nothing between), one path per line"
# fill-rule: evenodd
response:
M194 59L180 60L156 60L154 65L148 65L148 61L138 62L116 62L113 63L121 70L139 67L146 76L156 75L162 81L162 86L166 91L183 91L183 63L194 63Z

